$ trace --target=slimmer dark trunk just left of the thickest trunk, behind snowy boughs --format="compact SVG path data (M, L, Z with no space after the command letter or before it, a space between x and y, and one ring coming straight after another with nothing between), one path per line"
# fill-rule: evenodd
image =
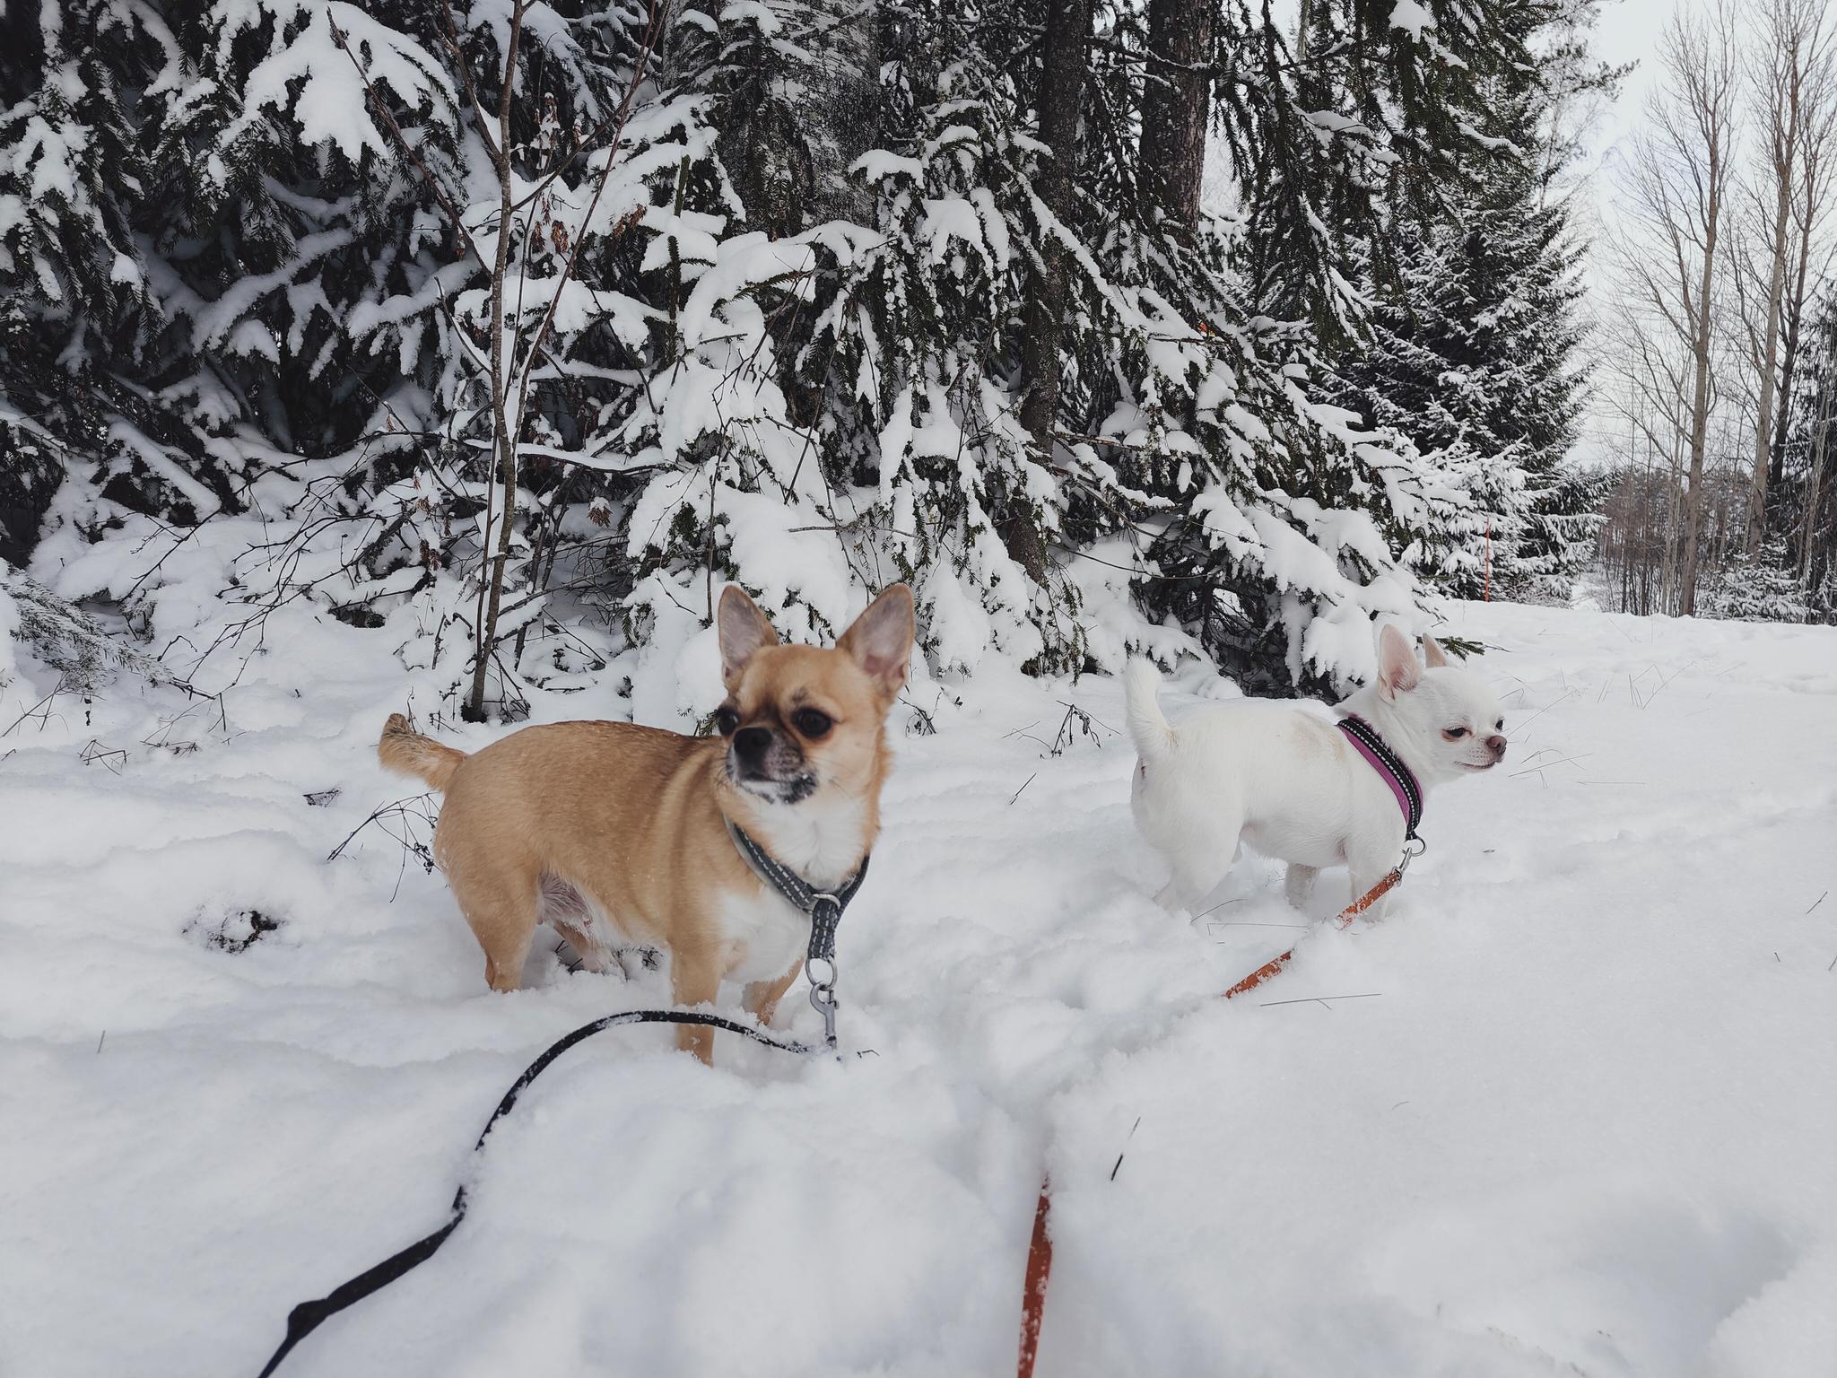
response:
M1091 0L1051 0L1045 22L1045 61L1040 68L1040 141L1043 160L1038 191L1060 220L1071 219L1078 164L1078 110L1084 107L1084 75L1089 59ZM1053 452L1058 421L1058 336L1065 320L1065 246L1042 235L1040 268L1027 294L1025 384L1021 424L1043 456ZM1045 582L1045 538L1023 494L1010 494L1001 538L1009 555L1034 582Z

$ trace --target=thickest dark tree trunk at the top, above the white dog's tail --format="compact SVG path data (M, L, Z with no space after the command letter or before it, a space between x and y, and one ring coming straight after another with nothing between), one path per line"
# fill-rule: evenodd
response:
M1212 103L1212 77L1201 68L1211 62L1211 46L1209 0L1150 0L1141 171L1163 215L1181 230L1200 222Z

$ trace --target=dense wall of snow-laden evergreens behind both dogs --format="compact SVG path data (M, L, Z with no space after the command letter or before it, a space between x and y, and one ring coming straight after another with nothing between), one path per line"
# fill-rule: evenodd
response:
M467 718L636 704L729 579L1345 687L1595 557L1593 13L13 6L0 559L202 683L310 601Z

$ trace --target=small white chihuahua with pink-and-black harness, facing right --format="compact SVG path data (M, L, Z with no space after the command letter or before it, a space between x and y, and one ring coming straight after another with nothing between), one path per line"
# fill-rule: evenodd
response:
M1345 865L1358 900L1398 864L1424 794L1505 759L1499 700L1448 665L1433 639L1427 669L1396 627L1378 636L1378 682L1335 709L1244 698L1200 709L1178 728L1161 715L1161 674L1132 660L1122 674L1141 764L1135 827L1174 865L1159 900L1194 909L1244 843L1288 862L1301 908L1323 865ZM1376 917L1374 908L1374 917Z

